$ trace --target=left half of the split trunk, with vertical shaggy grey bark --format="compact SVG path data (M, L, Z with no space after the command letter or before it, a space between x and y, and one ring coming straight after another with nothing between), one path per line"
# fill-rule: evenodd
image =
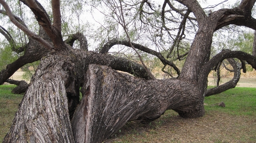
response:
M41 62L3 143L74 143L68 110L71 75L65 66L67 61L70 59L64 56L48 55Z

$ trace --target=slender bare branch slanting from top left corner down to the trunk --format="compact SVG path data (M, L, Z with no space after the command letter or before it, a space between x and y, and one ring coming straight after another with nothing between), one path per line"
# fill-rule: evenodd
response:
M41 44L43 44L47 49L52 49L53 48L53 46L51 44L49 44L47 41L45 41L42 37L40 37L39 35L33 33L27 27L25 27L23 24L21 24L19 21L17 21L15 19L15 17L13 16L10 7L8 6L8 4L4 0L0 0L0 4L2 4L4 9L6 10L7 15L9 16L11 22L14 25L16 25L19 29L21 29L27 35L31 36L33 39L35 39L38 42L40 42Z

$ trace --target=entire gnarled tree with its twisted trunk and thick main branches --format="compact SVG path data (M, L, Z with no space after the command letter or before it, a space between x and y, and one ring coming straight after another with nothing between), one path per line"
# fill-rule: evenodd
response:
M0 72L0 84L20 66L43 57L4 143L101 143L127 121L152 121L168 109L177 111L184 118L201 117L204 115L204 96L234 87L240 76L240 67L233 66L233 85L227 83L206 92L210 69L228 58L244 60L256 69L256 57L241 51L223 50L209 59L216 30L229 24L256 29L256 19L250 15L256 0L242 0L239 7L214 11L208 17L197 0L176 0L194 13L199 29L180 77L164 80L136 78L150 79L141 65L127 59L72 50L65 45L60 32L59 0L52 3L52 9L56 11L53 13L54 24L37 0L21 1L34 12L47 36L39 37L29 31L13 16L5 1L0 0L11 21L34 39L29 42L30 50ZM163 10L168 1L164 1ZM56 51L48 51L36 41ZM132 45L144 52L158 54L141 45ZM110 67L136 77L118 73ZM79 104L81 86L83 98Z

